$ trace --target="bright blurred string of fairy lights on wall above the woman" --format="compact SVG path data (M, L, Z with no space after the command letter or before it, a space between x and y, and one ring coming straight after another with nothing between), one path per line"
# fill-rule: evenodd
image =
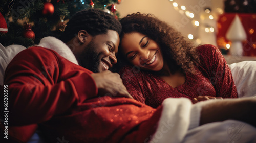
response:
M177 10L177 11L179 11L180 14L185 14L188 18L190 18L192 25L194 25L195 27L204 26L204 27L205 27L205 28L204 28L204 31L205 31L206 33L215 32L215 28L214 28L214 27L209 26L209 25L206 25L206 24L201 24L201 23L199 22L199 20L197 20L197 19L195 18L194 12L187 10L186 6L184 6L184 5L179 5L179 4L177 3L177 1L174 1L174 0L168 0L168 1L172 2L174 9ZM219 11L220 14L223 13L223 11L222 11L221 9L218 9L218 11ZM211 9L210 9L210 8L205 8L205 9L204 9L204 12L205 12L204 14L201 14L201 15L200 15L200 19L201 19L201 20L202 20L202 19L206 19L206 18L208 18L208 20L215 20L214 15L211 14ZM188 38L189 38L190 40L193 40L193 39L194 39L194 35L193 35L193 34L188 34L187 36L188 36ZM196 39L196 42L197 42L198 44L200 44L200 43L201 43L201 40L200 40L199 38L197 38L197 39Z

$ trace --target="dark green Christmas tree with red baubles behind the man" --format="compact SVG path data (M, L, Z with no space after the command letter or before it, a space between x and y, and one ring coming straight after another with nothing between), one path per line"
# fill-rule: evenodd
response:
M19 44L30 47L46 36L58 38L65 31L69 18L83 9L102 9L118 18L115 4L119 2L120 0L1 1L0 12L7 23L8 32L0 31L0 43L4 46Z

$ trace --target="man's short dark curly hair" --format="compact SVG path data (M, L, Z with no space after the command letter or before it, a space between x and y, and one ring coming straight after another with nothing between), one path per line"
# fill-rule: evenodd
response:
M99 9L86 9L74 14L60 40L68 42L74 38L80 30L86 30L90 35L106 34L108 30L121 33L121 24L115 17Z

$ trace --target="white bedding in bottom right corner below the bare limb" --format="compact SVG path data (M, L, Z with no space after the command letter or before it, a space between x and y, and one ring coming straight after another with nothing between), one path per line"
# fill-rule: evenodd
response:
M182 143L195 142L256 142L256 128L237 120L209 123L189 130L182 141Z

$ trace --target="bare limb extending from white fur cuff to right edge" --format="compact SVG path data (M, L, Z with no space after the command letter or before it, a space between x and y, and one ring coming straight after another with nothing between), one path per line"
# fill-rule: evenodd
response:
M200 125L228 119L256 127L256 98L216 100L202 107Z

